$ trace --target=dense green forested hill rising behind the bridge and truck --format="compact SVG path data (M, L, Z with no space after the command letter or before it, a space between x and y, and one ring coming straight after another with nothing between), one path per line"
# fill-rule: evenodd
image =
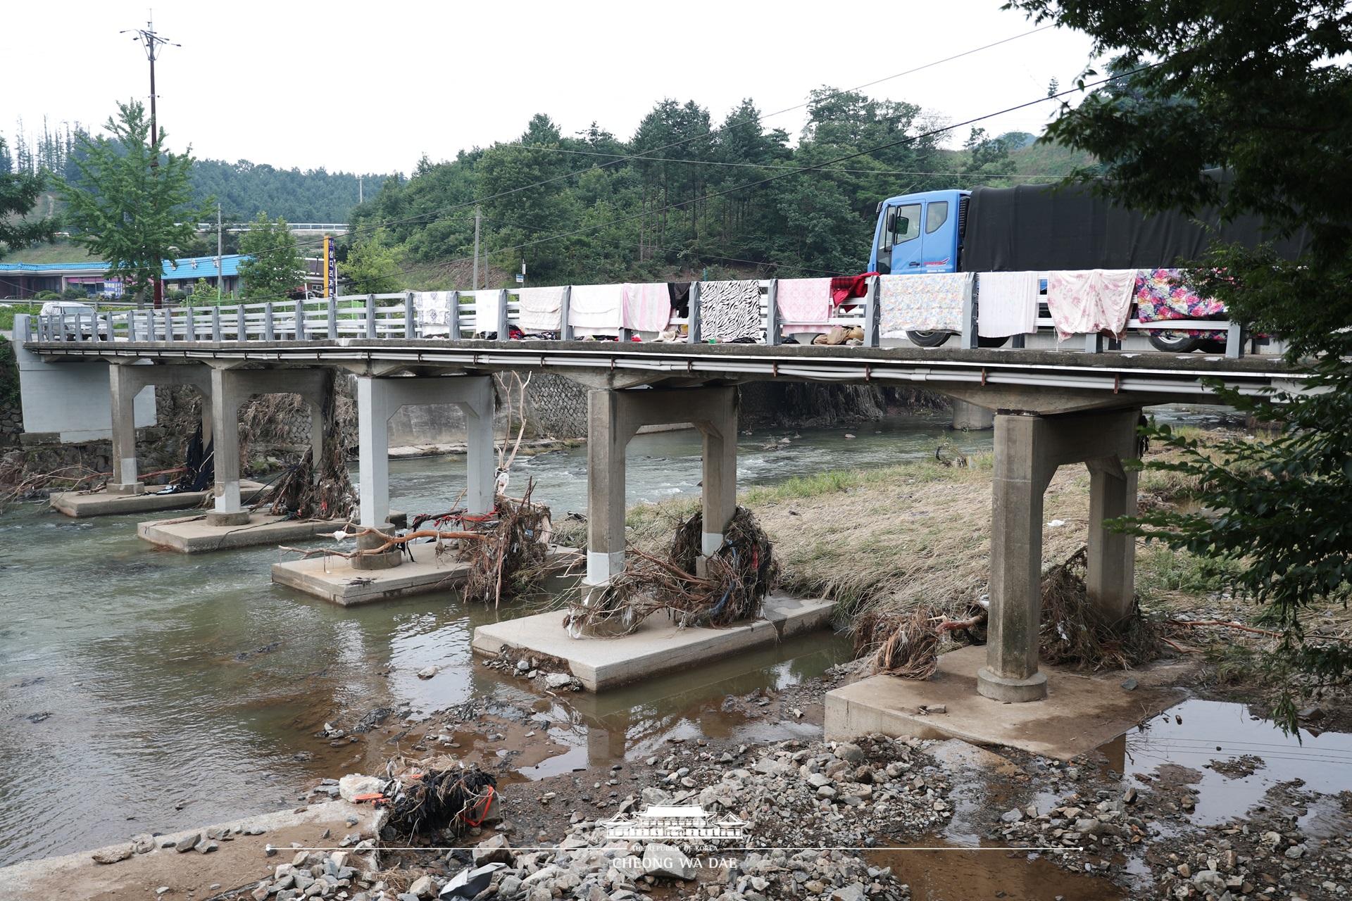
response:
M415 288L468 286L476 204L495 276L525 261L533 284L856 273L884 197L1049 181L1071 168L1017 172L1038 147L1025 132L977 130L956 135L964 150L945 150L948 135L930 134L919 107L853 92L814 92L792 145L760 118L750 100L721 123L694 101L662 100L622 139L595 124L565 135L537 115L514 142L423 158L407 181L387 181L354 211L352 239L400 253Z

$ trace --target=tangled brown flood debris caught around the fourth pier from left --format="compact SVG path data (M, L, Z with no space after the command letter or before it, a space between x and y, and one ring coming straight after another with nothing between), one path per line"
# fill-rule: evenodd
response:
M566 625L573 635L627 635L658 611L681 627L730 625L754 617L779 577L773 544L756 517L738 507L723 544L696 575L703 515L676 528L667 558L630 547L623 573L603 590L572 598Z

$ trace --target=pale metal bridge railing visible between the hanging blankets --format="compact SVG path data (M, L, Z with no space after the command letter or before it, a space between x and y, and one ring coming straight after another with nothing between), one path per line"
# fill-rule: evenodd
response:
M1053 327L1046 311L1046 280L1041 280L1037 327ZM879 347L884 340L880 331L879 280L868 282L864 297L854 297L840 307L830 305L818 321L787 319L776 299L779 280L757 282L760 296L758 316L761 336L758 343L780 344L786 336L808 342L811 336L830 334L836 327L848 331L849 343ZM980 277L969 280L963 297L961 328L953 334L961 347L977 347L977 312ZM496 297L493 296L496 294ZM569 340L576 335L568 324L572 288L565 288L560 328L552 336ZM345 294L339 297L256 301L235 305L173 307L162 309L124 309L93 313L61 312L35 316L30 324L31 340L39 342L254 342L254 340L338 340L345 338L461 339L484 335L506 336L521 323L519 289L480 292L443 292L438 296L441 309L449 311L445 321L431 323L423 313L423 301L430 294L415 292L385 294ZM439 319L439 317L438 317ZM1141 321L1130 316L1126 334L1149 335L1151 331L1198 331L1225 336L1225 355L1244 353L1244 334L1238 324L1214 319L1172 319ZM607 330L619 340L629 340L634 332L625 328ZM840 343L841 332L836 332ZM611 336L611 335L607 335ZM644 340L662 339L649 332ZM1010 346L1022 347L1025 335L1015 335ZM699 343L707 340L700 321L700 282L694 282L690 296L690 315L672 316L667 340ZM1102 353L1109 340L1101 334L1082 335L1067 342L1068 349Z

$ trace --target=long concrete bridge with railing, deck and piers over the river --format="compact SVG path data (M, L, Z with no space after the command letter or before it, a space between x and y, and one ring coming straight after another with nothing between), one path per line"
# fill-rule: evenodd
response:
M1038 669L1042 496L1056 469L1091 473L1088 593L1114 619L1132 613L1134 542L1103 527L1136 509L1136 426L1142 407L1205 403L1205 380L1241 392L1298 390L1301 376L1274 355L1241 357L1238 331L1225 330L1233 357L1105 350L1096 335L1072 351L976 347L975 299L959 347L887 346L877 332L876 289L856 313L834 323L861 324L863 346L781 344L775 282L761 285L768 340L700 343L698 286L691 315L676 320L688 339L642 343L569 340L566 293L558 340L476 340L507 334L518 315L508 292L453 294L452 321L431 334L414 294L341 297L287 305L254 304L188 311L134 311L16 323L26 416L30 407L59 408L80 398L108 398L115 471L110 490L143 490L137 478L134 397L147 385L193 385L206 400L204 426L215 436L215 508L220 525L239 521L238 420L254 393L297 392L311 403L312 373L339 367L357 377L360 520L389 517L387 421L402 405L461 405L469 431L470 512L492 507L493 373L552 371L589 389L587 581L604 584L625 567L625 447L642 426L692 423L703 434L706 554L722 543L737 492L734 385L788 380L922 385L994 415L994 517L991 615L986 666L977 690L1000 701L1045 697ZM489 294L485 297L485 294ZM480 321L477 311L491 309ZM833 323L822 323L823 330ZM1183 324L1190 326L1188 323ZM1023 343L1023 342L1018 342ZM150 365L147 365L150 363ZM315 417L318 421L318 417ZM322 440L318 430L312 440Z

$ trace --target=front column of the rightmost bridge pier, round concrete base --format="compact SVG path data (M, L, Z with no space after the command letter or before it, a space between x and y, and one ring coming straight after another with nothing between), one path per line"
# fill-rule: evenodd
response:
M976 690L996 701L1046 697L1037 669L1042 593L1042 493L1056 471L1040 416L995 417L991 516L991 612L986 666Z

